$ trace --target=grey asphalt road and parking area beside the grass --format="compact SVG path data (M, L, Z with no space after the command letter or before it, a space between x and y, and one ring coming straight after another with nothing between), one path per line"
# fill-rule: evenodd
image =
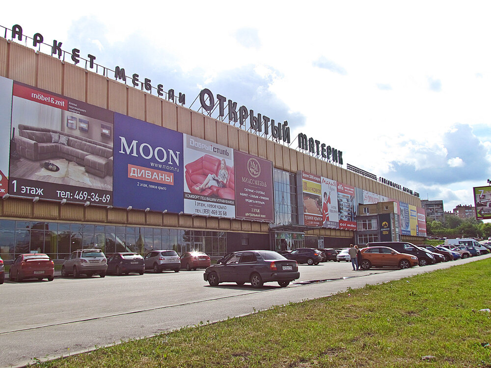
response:
M353 271L351 263L300 265L300 279L287 288L268 283L210 287L203 270L5 281L0 286L0 367L19 367L32 358L75 354L131 338L240 316L274 305L332 295L490 255L405 270Z

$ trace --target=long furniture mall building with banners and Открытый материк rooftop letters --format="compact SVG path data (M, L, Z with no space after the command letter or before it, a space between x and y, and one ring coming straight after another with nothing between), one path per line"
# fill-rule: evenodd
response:
M344 168L330 146L307 137L306 147L300 137L296 148L286 124L257 114L249 127L223 111L212 117L210 106L226 107L220 95L211 104L209 90L199 111L186 108L160 84L12 28L0 28L0 126L10 131L0 138L3 260L35 251L63 259L93 247L212 257L339 248L380 240L357 232L380 227L376 217L357 218L359 205L377 203L392 203L392 238L426 235L416 193Z

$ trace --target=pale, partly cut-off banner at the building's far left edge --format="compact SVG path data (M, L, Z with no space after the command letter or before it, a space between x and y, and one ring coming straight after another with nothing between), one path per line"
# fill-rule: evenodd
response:
M0 197L8 193L8 159L10 134L10 118L12 116L12 85L13 80L0 77ZM14 148L15 151L15 148Z

